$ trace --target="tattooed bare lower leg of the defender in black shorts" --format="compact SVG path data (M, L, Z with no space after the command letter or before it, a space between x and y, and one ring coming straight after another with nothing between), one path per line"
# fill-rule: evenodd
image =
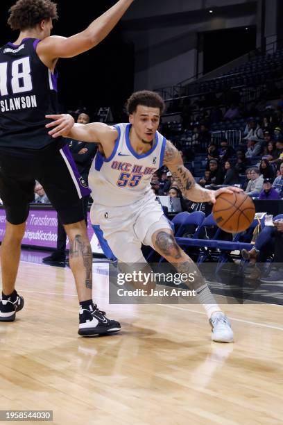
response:
M69 237L69 261L74 274L79 301L92 299L92 248L85 222L67 224Z

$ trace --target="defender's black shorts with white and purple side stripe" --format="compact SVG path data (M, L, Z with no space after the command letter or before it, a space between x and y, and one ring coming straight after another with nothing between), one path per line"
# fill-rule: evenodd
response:
M35 180L44 188L63 224L84 219L83 197L90 193L69 147L55 142L40 150L0 148L0 198L11 224L22 224L33 202Z

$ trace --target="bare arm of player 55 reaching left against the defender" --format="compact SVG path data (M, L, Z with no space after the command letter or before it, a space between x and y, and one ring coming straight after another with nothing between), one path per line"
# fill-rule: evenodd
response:
M53 138L63 136L80 142L101 143L114 141L117 139L118 131L115 127L108 126L103 122L92 122L90 124L74 124L74 118L69 114L46 115L46 118L53 119L46 124L49 135Z

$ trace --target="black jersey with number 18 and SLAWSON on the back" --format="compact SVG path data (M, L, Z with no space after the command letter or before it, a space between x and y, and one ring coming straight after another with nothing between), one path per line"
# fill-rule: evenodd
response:
M25 38L0 49L0 147L42 149L56 142L45 115L60 112L57 74L37 56L39 42Z

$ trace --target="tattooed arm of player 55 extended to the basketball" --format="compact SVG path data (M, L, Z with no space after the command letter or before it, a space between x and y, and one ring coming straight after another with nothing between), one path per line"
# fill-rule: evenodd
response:
M241 192L239 188L221 188L218 190L207 190L198 185L191 175L191 172L185 167L182 156L178 149L167 140L164 165L168 167L172 173L173 180L177 181L184 197L194 202L212 202L215 203L219 194Z

